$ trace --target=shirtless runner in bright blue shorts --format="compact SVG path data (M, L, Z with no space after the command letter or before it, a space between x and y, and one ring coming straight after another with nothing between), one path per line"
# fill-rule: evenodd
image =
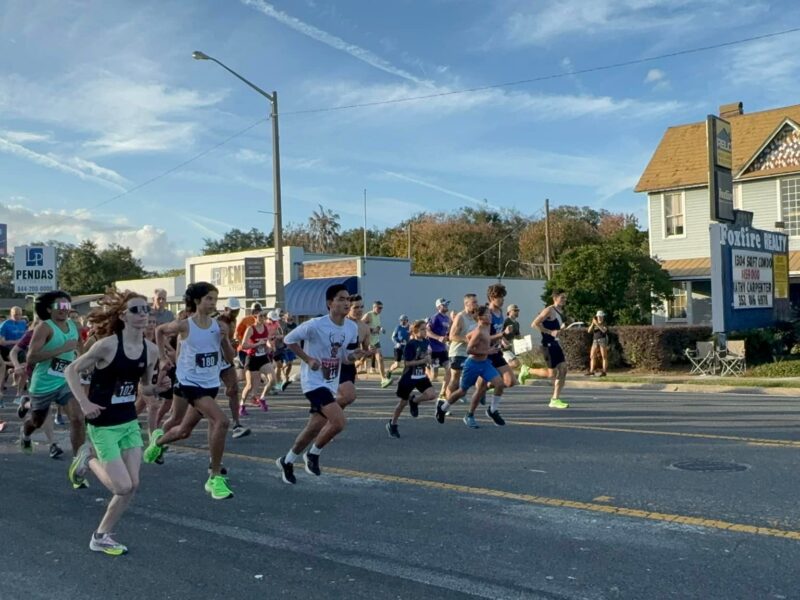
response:
M439 423L444 423L444 418L450 405L465 396L469 388L475 385L480 378L494 388L492 404L486 409L486 415L494 421L495 425L502 426L506 424L498 411L505 387L503 377L492 365L492 361L489 360L491 354L499 352L498 347L493 345L491 341L492 315L490 308L488 306L478 307L477 317L478 326L467 334L466 349L469 353L469 358L464 361L459 389L449 394L445 402L439 400L436 403L436 420ZM477 407L478 397L476 395L470 404L469 413L464 417L464 423L472 429L478 428L478 423L475 420L475 409Z

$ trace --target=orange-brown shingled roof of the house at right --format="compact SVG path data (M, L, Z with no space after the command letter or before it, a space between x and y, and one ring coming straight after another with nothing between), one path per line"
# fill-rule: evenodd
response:
M733 137L733 175L756 157L787 119L800 122L800 104L757 113L726 117ZM784 167L748 173L744 178L781 175L800 171ZM708 185L706 123L670 127L661 138L653 157L636 184L636 192L656 192Z

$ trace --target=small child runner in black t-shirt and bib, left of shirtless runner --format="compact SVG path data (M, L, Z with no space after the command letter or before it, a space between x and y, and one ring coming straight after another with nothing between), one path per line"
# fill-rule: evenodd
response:
M431 348L426 339L425 327L425 321L414 321L411 326L411 339L403 349L405 365L403 375L397 384L397 397L400 400L394 408L391 420L386 424L389 437L400 437L397 421L406 404L408 404L411 416L417 418L419 405L422 402L436 399L436 390L433 389L431 380L425 374L425 368L431 364ZM415 394L415 391L419 394Z

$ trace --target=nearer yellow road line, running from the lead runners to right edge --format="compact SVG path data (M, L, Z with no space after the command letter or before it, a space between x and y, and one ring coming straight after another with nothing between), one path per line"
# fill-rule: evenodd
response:
M206 449L193 448L190 446L173 446L173 448L177 451L195 452L202 454L208 453L208 450ZM275 463L274 458L250 456L247 454L235 454L226 452L225 456L230 458L238 458L250 462L257 462L270 465ZM748 533L751 535L760 535L760 536L782 538L789 540L800 540L800 531L793 531L790 529L778 529L776 527L760 527L758 525L733 523L731 521L722 521L719 519L706 519L703 517L691 517L686 515L652 512L648 510L641 510L638 508L626 508L623 506L614 506L611 504L598 504L595 502L580 502L576 500L565 500L562 498L549 498L547 496L520 494L516 492L506 492L503 490L495 490L491 488L475 487L470 485L459 485L454 483L445 483L442 481L431 481L428 479L415 479L413 477L401 477L399 475L387 475L385 473L372 473L368 471L355 471L353 469L340 469L337 467L326 467L325 472L333 473L335 475L341 475L342 477L352 477L357 479L372 479L377 481L385 481L387 483L399 483L402 485L409 485L418 488L427 488L434 490L443 490L448 492L457 492L461 494L469 494L471 496L502 498L504 500L516 500L518 502L536 504L539 506L571 508L573 510L604 513L620 517L631 517L634 519L645 519L648 521L679 523L681 525L705 527L708 529L718 529L722 531L735 531L737 533Z

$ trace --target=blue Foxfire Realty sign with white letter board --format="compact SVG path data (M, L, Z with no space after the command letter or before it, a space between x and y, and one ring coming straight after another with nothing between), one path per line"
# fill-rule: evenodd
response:
M721 223L713 223L710 232L714 331L764 327L779 320L788 307L788 236Z

